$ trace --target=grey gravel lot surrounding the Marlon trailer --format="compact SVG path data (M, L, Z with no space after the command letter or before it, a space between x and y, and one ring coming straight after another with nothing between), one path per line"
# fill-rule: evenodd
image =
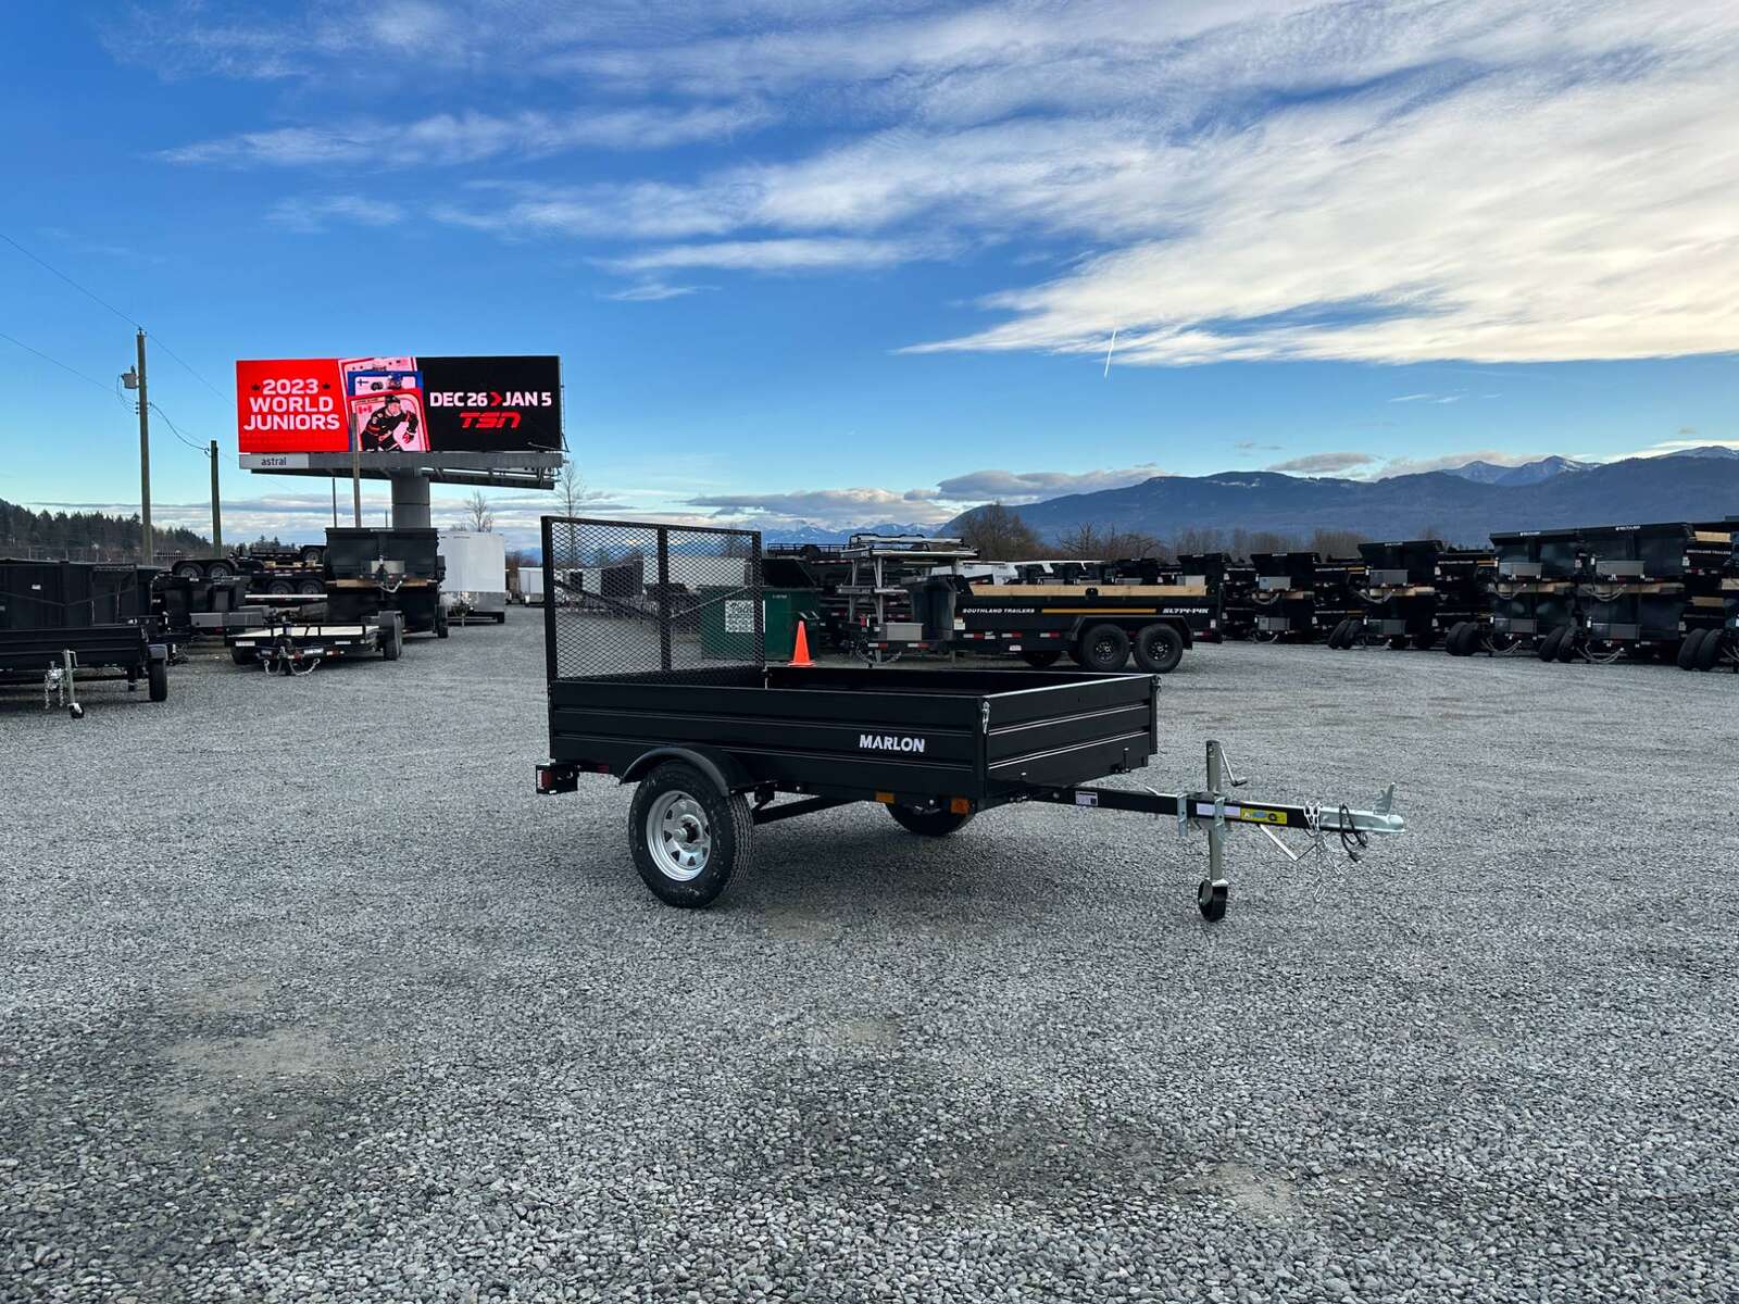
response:
M1200 649L1151 784L1410 819L1205 925L1052 807L659 906L541 650L0 695L0 1297L1739 1297L1734 676Z

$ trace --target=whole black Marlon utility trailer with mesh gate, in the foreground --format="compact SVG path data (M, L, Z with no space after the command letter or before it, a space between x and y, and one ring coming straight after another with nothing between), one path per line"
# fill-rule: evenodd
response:
M1209 920L1226 911L1224 838L1236 824L1276 843L1275 829L1301 829L1318 852L1330 836L1353 850L1403 828L1393 788L1369 812L1235 800L1217 742L1207 744L1198 793L1096 788L1141 770L1158 748L1158 676L767 666L760 534L544 518L550 591L579 558L614 556L645 558L659 591L678 558L690 570L711 558L720 582L699 603L661 600L635 622L579 603L544 607L550 760L537 791L572 793L583 774L636 784L635 866L673 906L713 902L753 859L758 826L856 802L878 802L901 828L932 838L1019 802L1205 829L1196 904ZM720 622L732 640L706 635Z

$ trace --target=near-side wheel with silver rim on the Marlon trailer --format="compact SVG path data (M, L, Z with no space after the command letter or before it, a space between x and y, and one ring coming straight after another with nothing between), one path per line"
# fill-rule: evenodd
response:
M692 765L666 762L635 789L628 842L640 882L666 906L711 906L755 855L755 817Z

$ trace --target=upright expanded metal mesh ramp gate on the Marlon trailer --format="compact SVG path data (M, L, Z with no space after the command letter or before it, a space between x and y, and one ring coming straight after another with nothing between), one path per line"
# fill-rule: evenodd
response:
M756 530L544 516L551 680L739 682L767 655Z

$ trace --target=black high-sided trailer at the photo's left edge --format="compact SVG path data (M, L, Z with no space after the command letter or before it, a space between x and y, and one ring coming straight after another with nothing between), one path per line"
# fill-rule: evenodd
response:
M169 697L169 643L151 614L151 567L0 560L0 683L42 685L43 706L83 716L78 680L146 682Z

